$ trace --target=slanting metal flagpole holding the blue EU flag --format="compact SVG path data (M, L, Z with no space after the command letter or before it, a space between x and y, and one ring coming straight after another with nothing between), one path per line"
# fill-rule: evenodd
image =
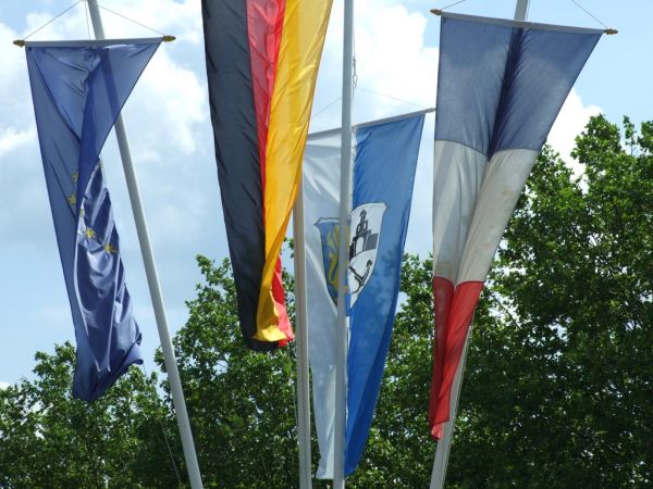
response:
M97 0L88 0L88 10L90 12L93 29L96 38L106 39L104 28L102 26L102 18L100 16L100 10L98 8ZM145 212L143 210L138 183L136 181L136 174L134 172L134 164L132 162L130 142L127 141L127 131L125 129L122 115L119 115L115 120L114 127L115 136L118 138L118 147L120 149L120 155L125 172L125 179L127 180L127 189L130 192L130 200L132 202L132 211L134 212L134 221L136 222L140 252L143 253L143 261L145 263L147 283L149 285L152 306L155 309L155 317L157 319L159 337L161 338L161 348L163 350L163 358L165 359L165 369L168 371L168 378L172 389L172 400L182 437L184 457L186 460L186 466L188 467L190 487L193 489L201 489L201 476L199 473L199 465L197 463L197 455L195 453L195 446L193 443L193 434L190 432L188 413L186 412L186 402L184 400L184 392L182 390L182 380L180 378L180 371L177 368L174 350L172 348L172 341L170 339L170 333L168 330L168 318L165 316L165 310L163 306L163 296L161 293L161 287L159 286L159 277L157 275L157 267L155 265L149 233L145 222Z

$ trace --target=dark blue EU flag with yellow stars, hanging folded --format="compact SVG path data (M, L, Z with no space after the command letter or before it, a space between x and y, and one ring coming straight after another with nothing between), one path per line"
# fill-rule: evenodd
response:
M27 66L77 361L73 396L100 397L141 363L100 150L161 39L28 42Z

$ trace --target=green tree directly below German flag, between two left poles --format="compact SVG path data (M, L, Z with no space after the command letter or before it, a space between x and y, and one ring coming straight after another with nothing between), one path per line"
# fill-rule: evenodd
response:
M205 283L174 346L205 487L297 487L293 346L248 351L229 262L198 256L198 264ZM161 355L158 362L163 368Z

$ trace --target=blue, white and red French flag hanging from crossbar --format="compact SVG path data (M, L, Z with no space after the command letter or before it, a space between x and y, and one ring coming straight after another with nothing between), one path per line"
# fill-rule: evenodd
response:
M433 189L435 341L429 424L442 437L473 311L517 199L602 30L443 14Z

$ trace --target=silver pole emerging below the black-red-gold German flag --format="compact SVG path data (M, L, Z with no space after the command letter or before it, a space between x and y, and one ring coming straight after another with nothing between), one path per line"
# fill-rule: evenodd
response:
M304 184L299 184L293 213L295 237L295 348L297 349L297 436L299 438L299 488L312 485L310 457L310 380L308 373L308 322L306 316L306 241L304 240Z

